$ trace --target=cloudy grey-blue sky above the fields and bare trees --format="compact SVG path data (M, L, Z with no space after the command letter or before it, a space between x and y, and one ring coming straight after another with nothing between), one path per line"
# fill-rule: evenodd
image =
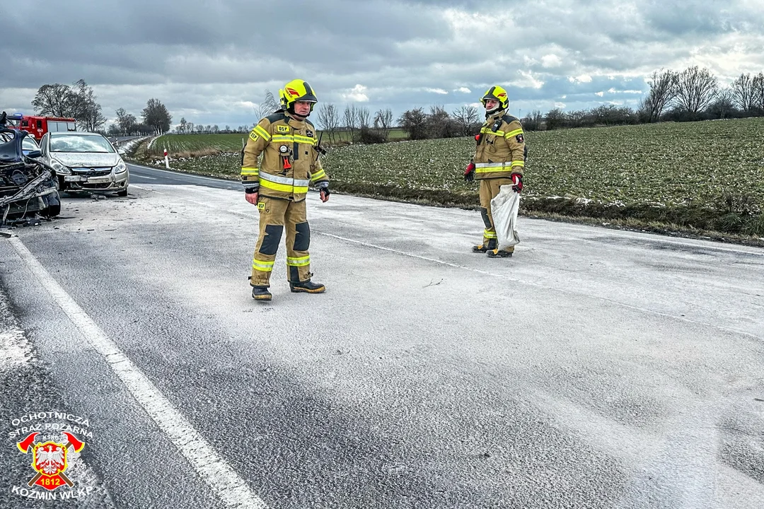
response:
M764 0L24 0L0 20L0 109L32 114L41 85L85 79L109 121L157 98L173 124L251 125L295 78L397 118L479 106L491 85L525 115L636 108L658 69L764 71Z

